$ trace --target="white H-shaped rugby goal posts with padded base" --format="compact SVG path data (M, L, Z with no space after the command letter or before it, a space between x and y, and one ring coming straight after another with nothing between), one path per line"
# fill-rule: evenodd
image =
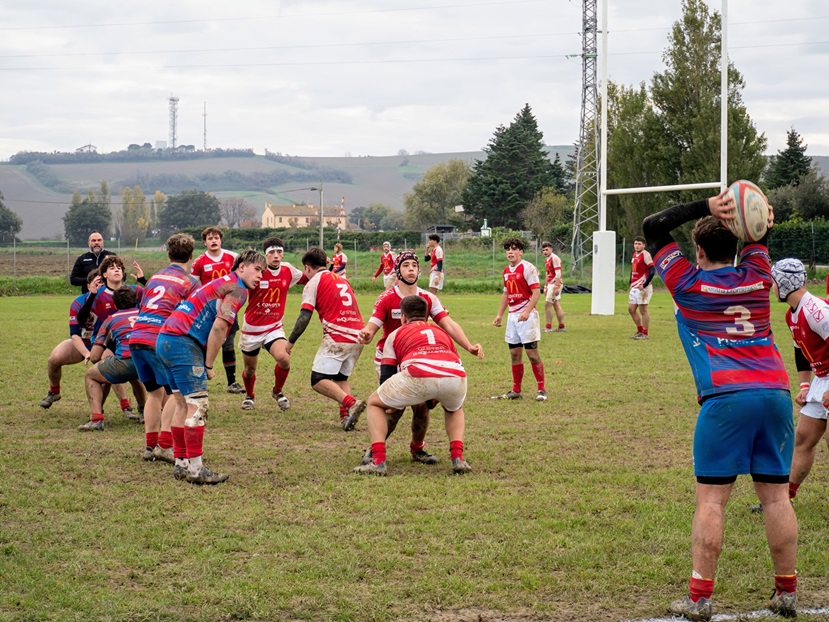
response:
M601 140L599 173L599 230L593 232L593 292L590 313L613 315L616 293L616 232L607 231L607 197L673 190L701 190L728 185L728 0L722 0L720 39L720 180L640 188L607 189L607 1L602 0ZM623 259L624 261L624 259ZM623 264L624 265L624 264Z

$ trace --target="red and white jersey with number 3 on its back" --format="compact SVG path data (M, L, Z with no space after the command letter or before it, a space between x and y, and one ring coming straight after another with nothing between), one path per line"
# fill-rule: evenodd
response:
M302 291L302 308L316 309L322 332L339 343L357 343L363 316L351 285L341 276L320 270Z

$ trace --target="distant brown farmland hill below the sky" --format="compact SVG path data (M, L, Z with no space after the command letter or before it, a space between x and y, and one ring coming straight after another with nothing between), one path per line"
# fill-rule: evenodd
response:
M558 153L562 162L573 154L572 145L547 148L550 158ZM370 203L385 203L403 209L403 195L423 173L441 162L459 158L469 163L484 157L482 151L418 153L397 156L338 158L284 158L264 156L207 158L186 161L100 162L52 164L38 170L11 164L0 165L0 192L5 204L23 219L23 239L63 238L63 215L71 201L72 188L85 191L106 180L118 202L125 185L139 184L145 194L156 190L167 194L183 187L213 192L220 199L243 197L257 209L271 203L319 203L322 179L324 203L339 205L344 197L346 211ZM826 172L829 156L812 156ZM32 172L34 171L34 173ZM192 181L192 185L188 183ZM279 183L271 182L277 181ZM57 188L57 190L55 189ZM294 191L295 190L295 191Z

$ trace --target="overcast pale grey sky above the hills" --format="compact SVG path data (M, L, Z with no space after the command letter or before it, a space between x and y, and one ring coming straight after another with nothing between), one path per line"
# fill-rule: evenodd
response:
M679 0L608 0L610 77L649 81ZM709 6L721 10L719 0ZM599 0L601 9L601 0ZM579 0L26 0L0 3L0 159L166 141L291 155L475 151L532 107L578 136ZM829 155L829 6L730 0L749 114ZM600 18L601 23L601 18Z

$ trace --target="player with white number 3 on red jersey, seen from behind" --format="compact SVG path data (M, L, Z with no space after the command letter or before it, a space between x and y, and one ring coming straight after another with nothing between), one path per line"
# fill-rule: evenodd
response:
M359 343L363 316L351 285L325 269L325 251L312 247L302 256L308 284L302 292L302 308L288 337L288 354L308 328L314 309L322 323L322 344L311 366L311 386L320 395L340 405L340 423L353 430L366 403L351 395L348 377L354 370L363 344Z

